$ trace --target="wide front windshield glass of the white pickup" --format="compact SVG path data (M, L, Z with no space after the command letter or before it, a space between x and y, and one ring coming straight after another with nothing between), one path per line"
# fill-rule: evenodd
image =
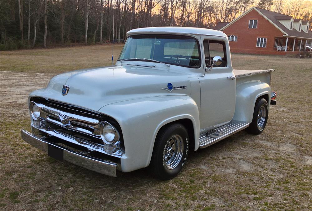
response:
M135 35L128 37L117 61L131 58L154 59L166 64L190 68L199 68L201 65L197 40L183 36Z

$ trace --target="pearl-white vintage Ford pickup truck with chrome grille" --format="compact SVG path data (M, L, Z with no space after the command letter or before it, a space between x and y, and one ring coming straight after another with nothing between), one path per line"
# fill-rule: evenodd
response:
M170 179L190 150L266 127L270 70L233 70L227 36L139 28L114 66L63 73L28 98L27 143L60 161L116 176L150 166Z

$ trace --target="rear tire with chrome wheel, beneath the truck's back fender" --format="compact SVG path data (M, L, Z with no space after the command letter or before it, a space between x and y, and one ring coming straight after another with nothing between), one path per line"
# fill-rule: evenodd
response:
M266 122L268 121L269 114L269 104L266 99L259 98L255 104L255 110L252 117L252 122L247 128L247 132L251 134L258 135L262 133L266 127Z

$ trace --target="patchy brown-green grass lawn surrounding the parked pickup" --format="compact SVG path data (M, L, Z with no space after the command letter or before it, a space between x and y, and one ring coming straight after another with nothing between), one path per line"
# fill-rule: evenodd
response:
M190 153L170 181L148 169L108 177L25 143L27 95L58 73L110 65L111 53L110 44L1 52L1 209L312 210L312 59L233 53L235 69L276 70L266 129Z

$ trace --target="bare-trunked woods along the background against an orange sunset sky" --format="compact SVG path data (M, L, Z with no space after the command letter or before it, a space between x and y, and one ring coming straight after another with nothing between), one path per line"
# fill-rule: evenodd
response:
M300 0L18 0L0 4L1 50L111 42L141 27L213 28L216 19L230 22L252 6L312 19L312 3Z

